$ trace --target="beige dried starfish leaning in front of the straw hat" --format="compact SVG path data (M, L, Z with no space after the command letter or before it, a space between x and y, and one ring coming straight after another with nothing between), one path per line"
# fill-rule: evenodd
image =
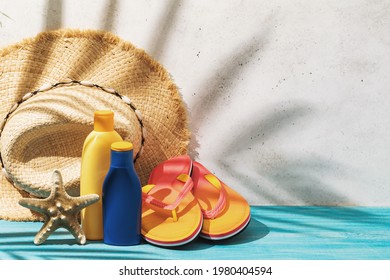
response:
M79 212L97 202L99 195L88 194L79 197L69 196L64 188L60 171L54 170L53 187L47 198L22 198L19 204L31 210L42 213L45 222L34 239L34 244L40 245L46 241L58 228L67 229L79 244L85 244L86 237L78 220Z

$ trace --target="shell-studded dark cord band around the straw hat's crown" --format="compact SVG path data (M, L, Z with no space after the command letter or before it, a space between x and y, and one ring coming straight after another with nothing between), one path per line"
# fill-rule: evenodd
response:
M101 86L101 85L97 85L97 84L89 82L89 81L78 81L78 80L71 80L71 79L69 79L69 80L64 80L64 81L61 81L61 82L57 82L55 84L45 84L45 85L41 86L40 88L38 88L35 91L26 93L19 101L17 101L15 104L13 104L11 106L11 108L9 109L9 111L8 111L7 115L5 116L5 118L1 121L1 123L0 123L0 137L1 137L1 134L3 133L3 130L4 130L5 124L7 123L8 118L10 117L10 115L13 112L15 112L15 110L19 107L20 104L22 104L23 102L27 101L31 97L37 95L38 93L45 92L45 91L48 91L50 89L57 88L57 87L60 87L60 86L72 86L72 85L81 85L81 86L85 86L85 87L95 87L95 88L98 88L98 89L100 89L102 91L105 91L105 92L107 92L109 94L112 94L112 95L115 95L115 96L119 97L120 99L122 99L122 101L124 103L126 103L131 108L131 110L135 113L135 115L137 117L137 120L138 120L138 122L140 124L140 127L141 127L141 147L140 147L138 153L134 157L134 163L135 163L137 161L137 159L140 157L140 155L142 154L143 149L144 149L144 145L145 145L146 128L145 128L144 123L143 123L143 118L142 118L141 111L138 110L137 107L131 102L130 98L128 98L127 96L121 95L115 89L104 87L104 86ZM7 172L7 170L5 170L3 157L1 155L1 152L0 152L0 164L1 164L3 175L11 183L13 183L11 178L10 178L10 176L9 176L9 174L8 174L8 172Z

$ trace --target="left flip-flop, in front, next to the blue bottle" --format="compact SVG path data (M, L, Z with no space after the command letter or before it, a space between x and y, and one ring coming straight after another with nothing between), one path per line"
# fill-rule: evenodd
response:
M203 216L192 194L192 161L179 156L160 163L142 188L143 238L158 246L191 242L202 229Z

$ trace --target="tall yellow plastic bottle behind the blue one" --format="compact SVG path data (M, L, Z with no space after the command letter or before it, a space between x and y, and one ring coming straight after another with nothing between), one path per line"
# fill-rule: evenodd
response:
M110 168L111 144L117 141L122 141L122 137L114 130L114 113L95 111L94 129L84 141L80 175L80 195L100 196L97 203L81 211L81 224L88 240L103 239L103 182Z

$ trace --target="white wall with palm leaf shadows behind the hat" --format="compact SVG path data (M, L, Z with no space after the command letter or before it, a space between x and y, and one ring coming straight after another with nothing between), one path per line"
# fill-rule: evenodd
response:
M57 28L163 64L192 156L251 204L390 206L389 1L0 2L0 47Z

